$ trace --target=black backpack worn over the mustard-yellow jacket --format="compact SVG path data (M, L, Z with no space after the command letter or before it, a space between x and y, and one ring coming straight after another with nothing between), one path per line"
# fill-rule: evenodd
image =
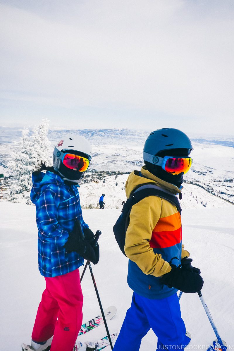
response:
M154 184L146 184L137 188L127 199L126 203L123 201L122 203L123 208L121 211L122 213L117 219L113 227L115 239L120 247L120 250L125 256L126 256L124 252L125 236L126 236L126 231L130 221L129 215L130 215L132 206L137 204L140 200L144 199L147 196L159 196L165 200L170 201L178 208L178 211L181 214L181 207L180 207L179 200L177 196L172 194L171 192L165 189L162 189L159 186L156 186Z

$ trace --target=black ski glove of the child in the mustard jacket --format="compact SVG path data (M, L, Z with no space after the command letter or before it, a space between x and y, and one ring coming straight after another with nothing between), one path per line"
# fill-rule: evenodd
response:
M201 272L193 267L191 262L192 259L186 257L181 260L181 265L178 267L171 264L172 270L161 277L161 283L187 293L201 291L203 286Z

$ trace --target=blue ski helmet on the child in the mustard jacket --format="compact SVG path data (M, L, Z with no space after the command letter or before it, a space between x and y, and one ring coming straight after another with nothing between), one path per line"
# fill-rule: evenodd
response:
M175 128L161 128L149 134L143 147L143 160L152 164L158 161L154 157L161 151L173 149L193 150L190 139L187 135ZM168 155L170 156L170 155ZM178 155L179 156L179 155ZM154 160L156 162L154 162Z

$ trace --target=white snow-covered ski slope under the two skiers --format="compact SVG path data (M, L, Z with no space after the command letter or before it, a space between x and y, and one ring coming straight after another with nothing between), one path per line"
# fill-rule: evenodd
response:
M30 342L45 281L38 271L34 206L1 201L0 212L0 349L17 351L22 342ZM120 209L83 210L83 217L91 229L102 231L100 261L93 266L93 272L104 309L110 305L117 307L116 316L108 322L111 332L120 329L132 297L126 282L128 260L120 252L112 232L119 214ZM201 269L205 281L202 289L205 301L222 339L233 350L234 206L183 209L182 223L183 243L190 251L194 266ZM83 321L86 322L100 313L88 271L82 281L82 290ZM192 334L189 349L199 350L201 346L204 350L203 345L212 342L215 335L198 295L183 294L181 311L187 330ZM81 336L80 341L96 340L104 335L106 332L102 325ZM150 330L142 339L140 351L155 351L156 339ZM106 351L110 350L110 347L106 348Z

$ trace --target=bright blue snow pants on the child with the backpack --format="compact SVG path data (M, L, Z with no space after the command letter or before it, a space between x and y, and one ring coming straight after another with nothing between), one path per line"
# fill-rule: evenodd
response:
M180 350L188 345L177 294L152 300L134 292L113 351L139 351L150 328L158 337L156 350Z

